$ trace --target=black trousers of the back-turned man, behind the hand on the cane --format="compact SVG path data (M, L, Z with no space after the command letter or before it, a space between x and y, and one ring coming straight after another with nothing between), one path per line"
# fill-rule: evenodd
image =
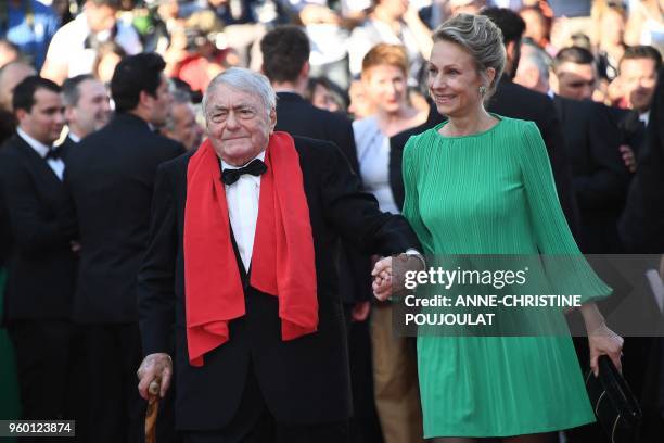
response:
M138 393L136 375L142 360L138 324L86 325L87 441L141 443L145 440L146 402ZM173 389L159 402L157 441L177 442Z

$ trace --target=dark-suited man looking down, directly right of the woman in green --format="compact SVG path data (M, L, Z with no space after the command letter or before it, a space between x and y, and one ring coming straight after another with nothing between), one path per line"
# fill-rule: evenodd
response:
M553 61L551 89L562 122L580 210L580 250L620 253L617 218L623 211L629 173L621 159L621 135L609 109L591 101L597 80L592 54L562 49Z

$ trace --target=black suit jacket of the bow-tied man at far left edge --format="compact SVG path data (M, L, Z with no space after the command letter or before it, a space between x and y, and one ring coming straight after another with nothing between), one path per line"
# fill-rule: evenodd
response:
M0 149L0 180L11 238L7 319L69 318L77 262L58 224L62 181L17 135Z

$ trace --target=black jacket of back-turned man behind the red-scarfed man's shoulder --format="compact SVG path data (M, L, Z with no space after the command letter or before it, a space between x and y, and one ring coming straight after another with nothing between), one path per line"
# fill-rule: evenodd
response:
M277 92L276 130L333 142L344 153L353 172L359 176L353 125L345 115L320 110L297 93ZM357 301L370 300L372 295L369 257L345 242L339 245L335 253L344 302L354 304Z

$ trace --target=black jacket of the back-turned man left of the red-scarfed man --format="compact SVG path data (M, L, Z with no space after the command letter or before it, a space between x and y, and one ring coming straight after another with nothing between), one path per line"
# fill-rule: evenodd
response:
M141 118L118 114L72 151L65 186L73 211L63 223L81 244L74 319L137 321L136 276L148 244L154 177L161 163L184 149Z

